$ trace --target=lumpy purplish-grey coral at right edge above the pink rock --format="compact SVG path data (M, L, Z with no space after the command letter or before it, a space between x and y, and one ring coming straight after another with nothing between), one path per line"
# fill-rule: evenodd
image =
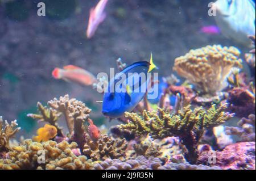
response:
M237 125L240 128L226 127L226 134L237 135L241 137L241 141L255 141L255 115L249 115L248 119L243 117Z

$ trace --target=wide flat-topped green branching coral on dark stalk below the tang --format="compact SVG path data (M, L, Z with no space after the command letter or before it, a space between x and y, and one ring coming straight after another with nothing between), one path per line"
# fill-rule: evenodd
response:
M142 117L137 113L126 112L129 123L119 125L119 128L129 130L137 135L150 134L152 138L167 136L180 137L185 146L185 158L195 163L198 157L197 143L205 130L216 127L233 115L224 112L226 104L216 108L213 104L209 110L196 107L191 110L191 105L184 107L177 114L170 114L169 110L158 108L158 111L144 111Z

